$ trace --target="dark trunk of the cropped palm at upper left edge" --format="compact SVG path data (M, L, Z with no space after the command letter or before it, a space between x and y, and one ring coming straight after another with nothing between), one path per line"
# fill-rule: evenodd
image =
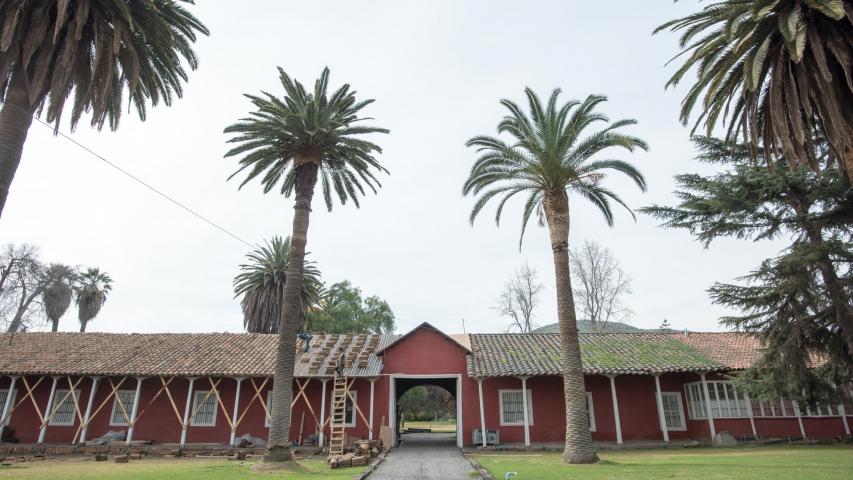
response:
M33 123L33 108L27 96L23 72L15 69L6 101L0 110L0 217L9 196L12 179L21 163L21 153L27 140L27 131Z

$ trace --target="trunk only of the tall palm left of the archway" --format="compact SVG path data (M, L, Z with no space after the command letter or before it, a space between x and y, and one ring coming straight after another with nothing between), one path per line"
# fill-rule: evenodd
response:
M299 160L299 159L297 159ZM300 163L300 162L297 162ZM275 373L273 377L270 436L265 462L287 462L290 454L290 403L293 398L293 367L296 361L296 334L302 310L302 269L305 245L308 242L308 220L311 199L317 183L317 163L308 160L296 170L296 198L294 202L293 233L287 263L287 281L284 283L284 308L278 333Z

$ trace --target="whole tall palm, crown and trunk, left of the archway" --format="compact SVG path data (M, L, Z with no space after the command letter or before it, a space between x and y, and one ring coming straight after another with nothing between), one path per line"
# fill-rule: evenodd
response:
M314 187L320 180L326 207L332 209L332 195L342 204L352 200L358 207L365 185L374 193L380 186L373 170L386 172L374 157L378 145L362 134L388 133L384 128L362 125L361 110L373 100L357 101L355 92L344 85L328 92L329 69L323 70L314 89L305 87L278 69L284 97L269 93L247 95L256 110L250 116L225 129L233 133L229 142L238 146L225 156L240 156L239 168L230 178L248 170L244 185L261 174L264 193L277 188L293 195L294 215L287 282L284 284L284 309L279 327L273 378L273 415L264 460L284 462L292 459L288 448L290 405L293 396L293 366L296 334L301 323L301 294L308 220ZM280 185L280 186L279 186Z

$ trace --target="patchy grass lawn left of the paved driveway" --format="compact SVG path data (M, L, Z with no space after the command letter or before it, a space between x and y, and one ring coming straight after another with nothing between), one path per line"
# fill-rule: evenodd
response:
M321 480L351 479L364 467L329 469L322 460L299 462L304 472L255 473L250 462L192 458L152 458L131 460L127 464L112 461L95 462L91 458L52 459L39 462L0 466L0 479L16 480L219 480L219 479L287 479Z

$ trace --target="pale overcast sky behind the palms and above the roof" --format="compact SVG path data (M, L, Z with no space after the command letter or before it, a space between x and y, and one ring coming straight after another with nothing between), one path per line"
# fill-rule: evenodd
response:
M545 284L537 323L556 322L547 231L531 228L521 251L520 201L492 208L472 228L473 200L461 196L475 158L465 141L493 134L500 98L523 100L530 86L564 99L604 94L611 119L635 118L630 133L648 153L622 155L646 175L649 192L608 178L627 203L671 204L673 175L703 171L689 131L678 122L683 89L664 90L677 52L659 23L693 11L693 2L580 1L241 1L200 2L192 11L211 36L196 45L200 68L183 99L123 117L119 131L88 124L72 135L250 243L290 233L292 200L257 184L226 182L225 126L250 110L243 93L281 93L276 66L306 83L324 66L332 85L350 83L376 125L384 187L326 212L315 202L308 249L324 279L352 281L386 299L398 331L430 322L448 332L502 331L492 310L510 272L527 261ZM67 132L67 125L62 125ZM319 200L319 199L318 199ZM721 308L706 289L731 281L776 252L768 243L720 241L704 250L687 233L634 222L617 212L609 228L582 199L572 201L571 242L597 240L633 277L631 323L719 330ZM248 248L124 177L91 154L34 123L0 221L0 241L41 247L46 261L98 266L115 280L91 330L240 331L232 279ZM69 311L60 329L76 330Z

